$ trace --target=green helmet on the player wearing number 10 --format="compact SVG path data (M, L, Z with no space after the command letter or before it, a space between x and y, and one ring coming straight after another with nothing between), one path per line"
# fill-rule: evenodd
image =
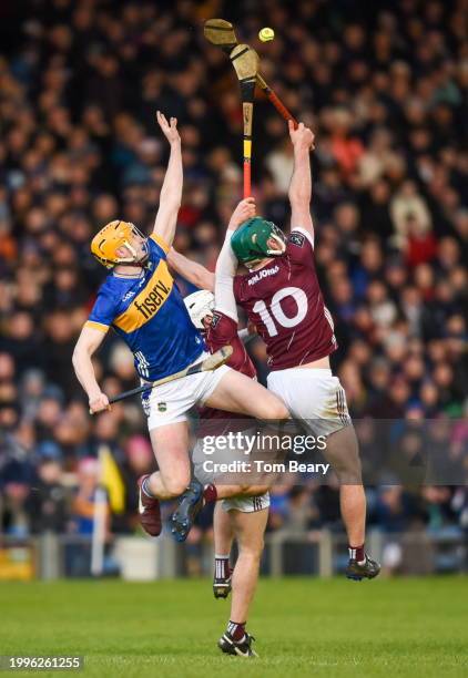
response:
M281 245L281 249L271 249L267 245L273 238ZM243 264L264 259L265 257L277 257L286 249L286 236L273 222L266 222L262 217L254 217L244 222L231 238L231 247L237 259Z

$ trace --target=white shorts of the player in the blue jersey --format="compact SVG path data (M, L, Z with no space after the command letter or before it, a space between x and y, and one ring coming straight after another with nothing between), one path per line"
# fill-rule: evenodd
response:
M204 352L199 356L195 362L200 362L208 356L210 353ZM152 391L144 393L142 404L147 417L149 431L187 421L187 411L194 405L202 405L230 369L222 364L215 370L190 374L161 387L155 387Z

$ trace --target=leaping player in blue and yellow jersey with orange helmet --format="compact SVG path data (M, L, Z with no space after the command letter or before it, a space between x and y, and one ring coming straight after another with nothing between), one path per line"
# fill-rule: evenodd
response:
M109 408L91 359L111 327L132 350L135 369L147 382L183 370L207 355L166 265L182 198L182 153L177 121L171 117L167 122L157 112L157 122L171 154L153 233L146 238L133 224L114 220L91 244L98 260L112 269L73 353L73 367L93 413ZM253 209L247 203L237 208L232 227L253 216ZM140 517L153 536L161 532L159 500L179 496L191 480L187 410L206 404L258 419L288 417L276 396L226 366L155 388L145 404L159 471L140 479ZM216 489L210 486L208 492L214 499Z

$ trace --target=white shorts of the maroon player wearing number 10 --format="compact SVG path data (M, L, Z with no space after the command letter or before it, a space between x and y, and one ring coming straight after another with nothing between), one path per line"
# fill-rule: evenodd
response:
M279 396L294 419L329 435L350 424L346 394L329 369L289 368L269 372L268 390Z

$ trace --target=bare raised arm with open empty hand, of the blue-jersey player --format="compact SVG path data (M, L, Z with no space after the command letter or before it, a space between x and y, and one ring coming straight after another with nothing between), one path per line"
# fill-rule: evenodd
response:
M183 171L181 137L177 132L177 119L171 117L171 123L157 111L157 123L171 145L167 170L160 195L160 208L154 222L154 233L167 245L172 245L177 224L177 214L182 201Z

